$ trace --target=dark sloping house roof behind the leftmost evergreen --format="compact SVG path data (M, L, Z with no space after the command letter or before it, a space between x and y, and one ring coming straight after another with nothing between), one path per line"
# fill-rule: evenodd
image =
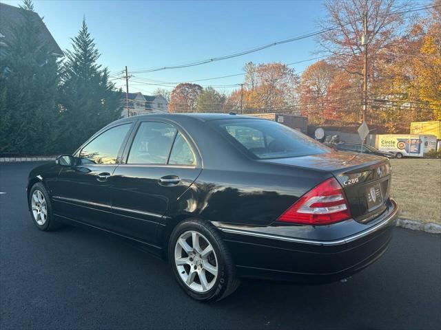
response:
M21 10L21 8L0 2L0 43L8 45L11 40L14 25L23 22L23 14ZM37 12L32 12L32 18L35 19L37 23L41 24L41 30L39 33L41 41L48 43L49 49L52 53L63 56L63 51L52 34L50 34L45 23L43 23L43 20L39 17L39 14L37 14Z

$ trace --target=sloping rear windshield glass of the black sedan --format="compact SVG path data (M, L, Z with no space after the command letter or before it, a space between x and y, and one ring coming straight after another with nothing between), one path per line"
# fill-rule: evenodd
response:
M212 123L236 146L259 159L316 155L330 150L311 137L270 120L216 120Z

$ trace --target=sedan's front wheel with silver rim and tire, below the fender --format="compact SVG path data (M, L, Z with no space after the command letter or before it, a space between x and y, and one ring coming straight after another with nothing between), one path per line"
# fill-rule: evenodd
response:
M29 192L29 209L32 220L39 230L45 232L58 229L61 224L52 217L49 194L41 182L34 184Z

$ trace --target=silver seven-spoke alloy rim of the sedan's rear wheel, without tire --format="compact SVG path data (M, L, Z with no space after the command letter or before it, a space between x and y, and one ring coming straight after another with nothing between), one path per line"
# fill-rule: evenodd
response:
M181 280L196 292L207 292L216 283L216 252L200 232L189 230L178 237L174 248L174 263Z

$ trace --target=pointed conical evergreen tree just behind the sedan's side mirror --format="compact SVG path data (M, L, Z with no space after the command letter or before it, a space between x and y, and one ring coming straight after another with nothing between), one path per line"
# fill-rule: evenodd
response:
M63 150L74 151L87 137L121 117L121 91L114 91L107 68L97 64L100 56L83 20L65 52L61 67L61 127Z

